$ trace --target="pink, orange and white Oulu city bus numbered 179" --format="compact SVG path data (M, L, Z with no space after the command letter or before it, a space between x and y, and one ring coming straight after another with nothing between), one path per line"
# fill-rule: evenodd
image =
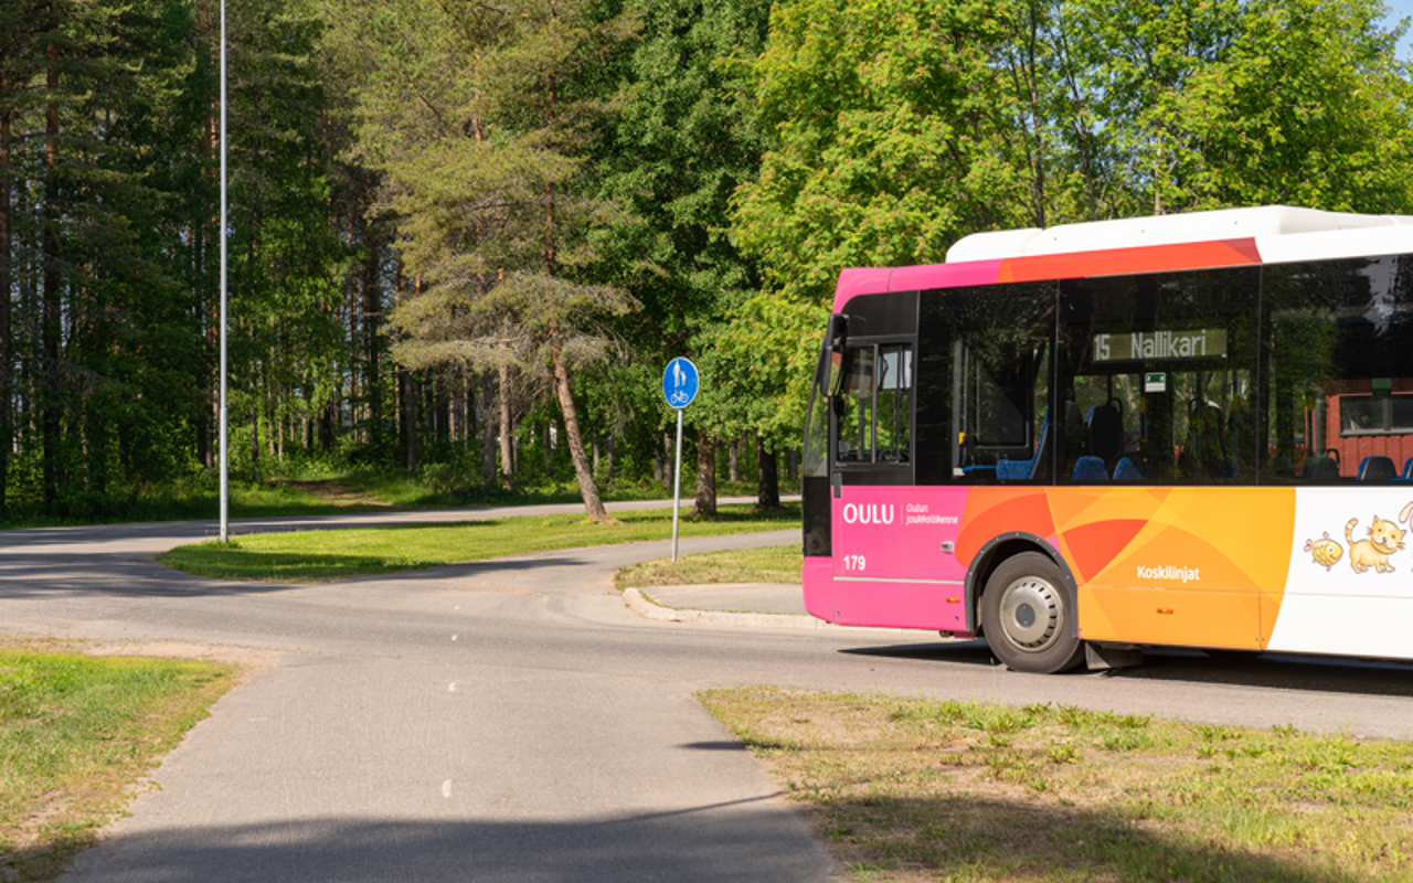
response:
M801 492L831 623L1029 672L1413 658L1413 218L1194 212L844 270Z

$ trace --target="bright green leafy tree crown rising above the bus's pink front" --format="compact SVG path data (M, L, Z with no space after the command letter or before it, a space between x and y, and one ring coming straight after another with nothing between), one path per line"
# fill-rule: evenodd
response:
M777 6L756 64L776 136L736 225L773 287L821 301L844 267L937 263L957 237L1026 226L1030 37L1020 1L805 0ZM1031 68L1024 66L1026 64ZM1039 157L1054 162L1054 157ZM1043 201L1041 201L1043 205Z

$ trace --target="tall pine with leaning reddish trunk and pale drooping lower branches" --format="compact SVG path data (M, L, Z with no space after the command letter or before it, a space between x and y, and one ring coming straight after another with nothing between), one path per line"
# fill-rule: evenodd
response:
M603 318L634 304L584 281L585 233L603 206L585 195L582 174L605 109L596 65L632 21L596 8L403 3L349 8L342 21L374 72L359 96L359 154L386 175L401 260L424 287L391 316L401 333L393 357L543 379L585 509L603 520L572 376L613 349Z

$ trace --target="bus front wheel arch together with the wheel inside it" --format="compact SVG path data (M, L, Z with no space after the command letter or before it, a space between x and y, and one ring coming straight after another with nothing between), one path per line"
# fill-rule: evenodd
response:
M1051 674L1084 661L1074 575L1048 543L998 537L968 576L975 622L1006 667Z

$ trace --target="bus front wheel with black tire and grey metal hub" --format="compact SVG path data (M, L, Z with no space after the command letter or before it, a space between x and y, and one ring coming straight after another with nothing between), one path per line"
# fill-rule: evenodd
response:
M1007 668L1067 671L1084 658L1064 575L1047 555L1022 552L992 571L981 596L981 627Z

